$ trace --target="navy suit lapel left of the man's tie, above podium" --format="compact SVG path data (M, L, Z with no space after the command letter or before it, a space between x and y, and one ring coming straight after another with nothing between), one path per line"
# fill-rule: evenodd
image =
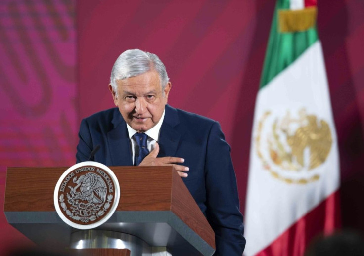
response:
M114 128L107 133L111 165L132 166L128 129L118 109L114 112L112 123Z

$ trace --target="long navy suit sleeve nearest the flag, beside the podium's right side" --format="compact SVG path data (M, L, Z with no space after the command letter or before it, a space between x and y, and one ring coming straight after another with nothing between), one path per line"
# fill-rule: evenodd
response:
M206 149L206 216L215 231L215 256L241 256L245 247L243 216L239 211L230 146L220 124L210 130Z

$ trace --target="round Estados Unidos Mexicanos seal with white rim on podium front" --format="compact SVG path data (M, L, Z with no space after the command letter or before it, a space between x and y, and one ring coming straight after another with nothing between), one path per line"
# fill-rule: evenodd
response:
M119 199L120 186L115 174L107 166L92 161L67 169L54 190L56 212L78 229L91 229L106 222Z

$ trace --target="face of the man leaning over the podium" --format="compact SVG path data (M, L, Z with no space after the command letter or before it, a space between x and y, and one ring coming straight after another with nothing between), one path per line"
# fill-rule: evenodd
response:
M138 132L154 127L162 117L171 83L167 83L163 93L156 71L117 80L116 83L118 97L115 97L111 85L109 89L125 122Z

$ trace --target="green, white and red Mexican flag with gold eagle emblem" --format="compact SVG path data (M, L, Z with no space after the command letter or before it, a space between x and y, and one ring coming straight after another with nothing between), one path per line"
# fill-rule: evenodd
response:
M254 113L246 256L301 256L339 224L338 146L316 17L316 0L277 0Z

